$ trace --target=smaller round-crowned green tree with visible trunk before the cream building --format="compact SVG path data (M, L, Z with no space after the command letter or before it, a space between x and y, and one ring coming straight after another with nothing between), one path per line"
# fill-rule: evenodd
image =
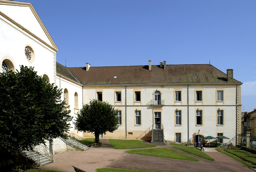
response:
M93 133L95 142L99 143L100 134L112 133L118 128L117 111L111 104L93 99L83 105L74 124L78 131Z

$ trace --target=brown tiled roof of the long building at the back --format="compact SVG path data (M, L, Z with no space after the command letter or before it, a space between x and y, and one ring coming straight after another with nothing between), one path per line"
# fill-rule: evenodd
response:
M147 65L90 67L88 71L86 67L68 69L84 85L228 83L227 75L210 64L166 65L166 69L152 65L151 71L148 68ZM233 79L233 83L241 82Z

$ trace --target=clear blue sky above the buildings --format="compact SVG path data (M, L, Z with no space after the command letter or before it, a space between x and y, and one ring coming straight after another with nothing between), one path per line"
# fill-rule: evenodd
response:
M67 67L211 64L242 83L256 108L255 0L21 0L30 2Z

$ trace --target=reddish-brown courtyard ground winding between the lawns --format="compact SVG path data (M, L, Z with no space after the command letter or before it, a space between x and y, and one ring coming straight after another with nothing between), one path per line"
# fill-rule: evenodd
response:
M102 147L93 147L84 152L63 152L54 155L55 163L47 164L40 169L61 170L74 172L76 166L87 172L95 172L97 168L123 168L136 170L158 170L173 172L254 172L244 164L214 150L206 148L205 153L215 161L206 160L193 154L173 148L171 145L157 145L167 147L189 155L199 161L177 160L162 157L125 153L129 149L114 149L107 139L101 139ZM154 147L154 148L156 148Z

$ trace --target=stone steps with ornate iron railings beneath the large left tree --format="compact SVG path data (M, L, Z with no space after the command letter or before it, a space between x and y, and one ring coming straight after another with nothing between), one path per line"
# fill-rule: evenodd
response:
M53 152L43 144L33 146L33 149L28 148L28 150L23 150L21 155L39 166L54 163Z

